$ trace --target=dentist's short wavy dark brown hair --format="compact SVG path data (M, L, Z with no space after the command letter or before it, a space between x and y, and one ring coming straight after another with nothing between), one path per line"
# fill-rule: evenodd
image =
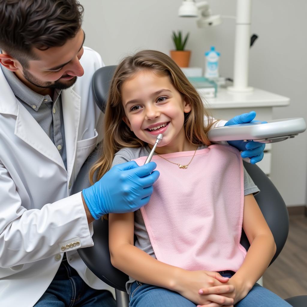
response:
M0 49L27 68L33 48L60 47L81 28L76 0L0 0Z

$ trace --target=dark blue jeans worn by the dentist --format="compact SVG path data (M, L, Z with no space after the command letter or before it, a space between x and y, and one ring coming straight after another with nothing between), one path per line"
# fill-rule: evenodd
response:
M87 286L77 271L63 258L50 286L34 307L115 307L113 295L107 290Z

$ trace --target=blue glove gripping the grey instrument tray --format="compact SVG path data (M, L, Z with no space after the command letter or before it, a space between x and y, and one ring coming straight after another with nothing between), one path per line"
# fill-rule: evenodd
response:
M241 115L237 115L234 118L230 119L225 126L231 126L236 124L243 124L246 122L257 122L253 120L256 117L256 112L251 111L249 113L244 113ZM261 161L263 158L263 150L265 148L265 144L249 141L243 142L240 141L227 141L227 143L238 150L242 151L241 157L242 158L250 158L251 164L256 164L257 162Z

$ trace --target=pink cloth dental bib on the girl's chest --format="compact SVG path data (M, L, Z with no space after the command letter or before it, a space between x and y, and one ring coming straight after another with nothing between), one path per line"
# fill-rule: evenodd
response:
M193 154L163 157L188 164ZM145 160L135 161L143 165ZM244 182L239 151L227 145L197 150L187 169L157 155L152 161L160 177L141 212L156 258L186 270L237 271L246 255L240 245Z

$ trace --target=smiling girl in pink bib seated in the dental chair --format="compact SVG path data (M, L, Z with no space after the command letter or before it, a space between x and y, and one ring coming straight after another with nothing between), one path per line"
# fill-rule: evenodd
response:
M130 276L130 306L290 306L255 284L276 250L253 196L259 190L238 150L210 144L212 122L173 60L151 50L125 58L104 123L104 155L92 169L98 177L122 162L143 165L163 134L150 202L109 215L111 262Z

